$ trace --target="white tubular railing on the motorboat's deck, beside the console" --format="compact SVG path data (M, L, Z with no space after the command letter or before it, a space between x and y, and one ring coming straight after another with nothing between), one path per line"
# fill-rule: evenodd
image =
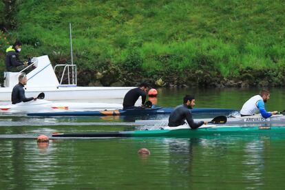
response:
M67 64L59 64L54 66L54 72L56 72L56 68L63 67L63 72L61 74L61 81L59 81L59 85L64 86L76 86L77 85L77 68L76 65L67 65ZM65 80L64 76L67 75L67 83L63 83Z

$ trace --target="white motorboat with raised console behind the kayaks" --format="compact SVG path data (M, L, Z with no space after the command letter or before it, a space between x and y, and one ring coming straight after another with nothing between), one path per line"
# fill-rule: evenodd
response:
M46 100L96 100L103 101L114 98L122 99L134 87L78 87L76 65L56 65L52 67L47 55L34 57L32 64L25 70L32 69L27 74L28 84L25 85L27 97L45 93ZM56 73L62 70L61 77ZM4 72L4 87L0 87L0 101L10 101L12 88L18 83L20 72ZM67 81L64 83L64 81ZM114 100L112 100L114 102ZM111 102L112 102L111 101ZM115 100L116 101L116 100ZM107 101L108 103L110 101ZM118 101L116 101L118 102Z

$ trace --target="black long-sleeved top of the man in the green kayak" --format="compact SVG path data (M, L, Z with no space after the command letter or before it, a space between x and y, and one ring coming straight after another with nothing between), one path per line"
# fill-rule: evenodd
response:
M186 104L178 105L170 114L168 120L169 127L177 127L179 125L185 124L185 119L187 123L191 127L191 129L197 129L201 125L204 124L204 121L200 121L199 123L195 123L192 118L192 113L190 109L188 109Z

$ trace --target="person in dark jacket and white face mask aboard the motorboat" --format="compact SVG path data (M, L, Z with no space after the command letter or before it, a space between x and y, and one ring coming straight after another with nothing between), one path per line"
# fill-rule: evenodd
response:
M6 70L8 72L19 72L28 66L28 62L19 60L19 52L21 52L22 44L20 41L16 41L14 45L11 45L6 49Z

